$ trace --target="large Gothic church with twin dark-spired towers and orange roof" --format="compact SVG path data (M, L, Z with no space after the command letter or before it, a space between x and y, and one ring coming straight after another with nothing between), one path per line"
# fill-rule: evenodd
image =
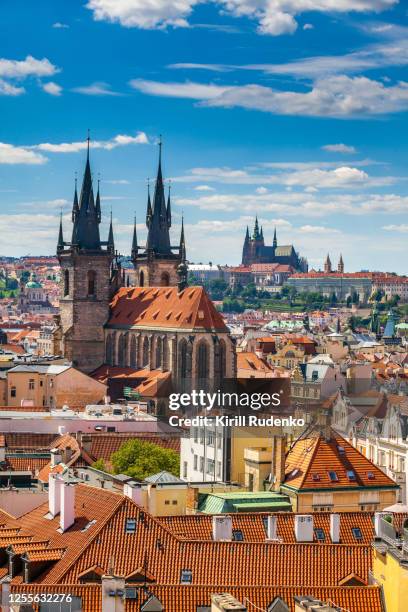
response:
M75 185L72 238L60 221L61 265L56 354L78 369L153 381L168 373L173 384L199 388L235 373L235 347L224 319L203 287L187 286L184 226L171 245L171 202L164 194L161 144L153 202L148 190L145 248L136 222L131 256L137 287L125 287L115 249L112 216L102 241L99 185L94 196L89 155L80 197Z

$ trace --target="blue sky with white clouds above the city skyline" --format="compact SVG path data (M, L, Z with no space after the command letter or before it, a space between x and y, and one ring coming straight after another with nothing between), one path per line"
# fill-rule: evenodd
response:
M258 214L311 267L407 273L407 21L397 0L3 0L1 254L53 253L61 208L69 239L90 128L124 254L162 133L191 261L238 263Z

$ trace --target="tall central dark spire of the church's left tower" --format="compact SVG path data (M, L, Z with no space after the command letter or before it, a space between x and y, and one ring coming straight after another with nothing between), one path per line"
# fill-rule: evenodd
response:
M88 132L88 147L85 164L84 178L82 181L81 196L79 199L79 210L75 215L72 231L73 246L91 251L101 249L99 236L99 223L97 209L95 206L94 192L92 186L91 164L89 160L90 137Z

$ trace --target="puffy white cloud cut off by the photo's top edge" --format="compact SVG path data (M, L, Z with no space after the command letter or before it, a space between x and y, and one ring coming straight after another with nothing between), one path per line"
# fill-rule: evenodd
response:
M216 4L235 17L258 22L261 34L290 34L297 28L295 17L309 11L322 13L379 12L398 0L88 0L94 19L144 29L186 27L198 4Z

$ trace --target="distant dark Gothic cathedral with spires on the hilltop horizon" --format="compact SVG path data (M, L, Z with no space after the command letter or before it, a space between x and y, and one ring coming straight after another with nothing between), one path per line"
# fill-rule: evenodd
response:
M262 227L259 228L258 217L256 217L252 235L250 235L248 227L246 230L242 249L242 265L251 266L252 264L270 263L292 266L298 272L307 272L308 269L306 259L299 257L292 244L278 246L276 229L273 235L272 246L266 246L263 229Z

